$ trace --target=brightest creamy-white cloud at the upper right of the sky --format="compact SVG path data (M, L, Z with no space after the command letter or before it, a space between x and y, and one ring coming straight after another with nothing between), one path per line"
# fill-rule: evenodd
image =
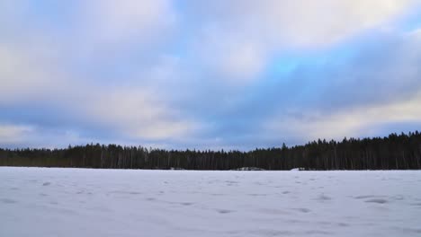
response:
M279 1L276 1L279 3ZM269 6L273 22L280 21L278 34L297 47L318 47L345 40L355 34L379 27L414 4L411 0L322 0L290 1ZM269 8L266 8L269 11ZM278 11L279 12L278 12ZM283 31L283 32L282 32Z

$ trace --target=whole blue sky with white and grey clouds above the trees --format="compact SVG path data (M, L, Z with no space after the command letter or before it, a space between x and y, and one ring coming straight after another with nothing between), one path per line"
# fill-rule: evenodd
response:
M0 1L0 147L421 130L421 0Z

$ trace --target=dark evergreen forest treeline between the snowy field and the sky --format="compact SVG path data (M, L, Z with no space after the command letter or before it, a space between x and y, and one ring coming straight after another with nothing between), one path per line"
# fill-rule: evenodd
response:
M231 170L416 170L421 169L421 134L391 134L341 142L240 151L177 151L139 146L82 145L66 149L0 149L0 166L102 169Z

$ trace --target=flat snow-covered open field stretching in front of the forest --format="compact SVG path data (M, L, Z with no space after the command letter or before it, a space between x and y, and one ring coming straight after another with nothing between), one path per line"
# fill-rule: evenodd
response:
M421 171L0 168L0 236L421 236Z

